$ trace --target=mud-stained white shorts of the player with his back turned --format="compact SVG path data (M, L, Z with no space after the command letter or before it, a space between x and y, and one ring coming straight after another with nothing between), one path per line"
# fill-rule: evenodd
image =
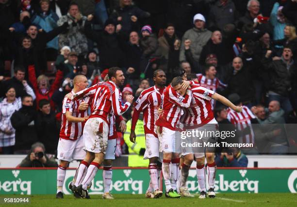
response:
M90 118L83 128L84 149L88 152L105 154L108 143L108 124L101 118Z

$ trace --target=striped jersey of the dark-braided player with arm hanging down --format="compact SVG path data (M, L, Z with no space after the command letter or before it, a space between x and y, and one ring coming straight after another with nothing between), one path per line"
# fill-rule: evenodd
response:
M136 123L139 117L139 113L143 111L143 122L145 134L153 134L157 136L155 123L158 118L158 109L162 104L162 95L164 88L157 88L156 86L150 87L141 92L140 96L136 100L132 116L131 129L135 130Z

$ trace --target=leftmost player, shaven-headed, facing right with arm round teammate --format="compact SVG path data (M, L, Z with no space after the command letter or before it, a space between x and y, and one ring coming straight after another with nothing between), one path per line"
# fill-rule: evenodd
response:
M83 75L77 75L73 79L74 88L71 94L75 94L87 88L88 80ZM90 102L87 97L82 100L72 101L65 97L63 100L63 115L60 131L60 140L58 143L57 157L60 164L57 170L57 195L56 198L63 198L63 184L66 175L66 168L69 161L82 160L85 156L83 151L82 131L84 122L88 119L87 111L80 112L78 107L82 102ZM77 172L74 178L77 176ZM75 179L73 180L75 182ZM74 183L70 184L73 185ZM71 187L70 187L71 188Z

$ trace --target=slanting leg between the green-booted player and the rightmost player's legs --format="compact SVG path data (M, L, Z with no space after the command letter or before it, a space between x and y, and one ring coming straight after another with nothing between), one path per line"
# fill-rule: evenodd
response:
M189 169L190 166L194 160L194 154L193 153L185 153L184 156L182 156L182 163L181 163L181 170L180 170L180 177L179 177L179 192L181 196L185 197L194 197L194 195L191 195L191 193L187 189L187 179L189 176Z

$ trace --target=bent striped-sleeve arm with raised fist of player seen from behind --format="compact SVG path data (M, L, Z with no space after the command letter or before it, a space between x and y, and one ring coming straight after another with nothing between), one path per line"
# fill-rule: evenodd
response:
M112 108L116 116L120 116L123 113L125 113L128 108L131 106L134 97L132 95L127 96L127 102L124 104L124 106L121 106L120 99L119 99L119 91L115 90L115 92L112 94Z

